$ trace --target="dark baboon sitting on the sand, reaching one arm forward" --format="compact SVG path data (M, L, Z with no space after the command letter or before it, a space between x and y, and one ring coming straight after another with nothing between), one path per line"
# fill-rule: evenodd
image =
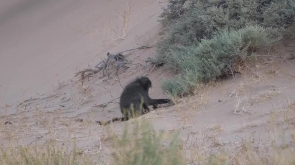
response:
M149 105L157 108L158 104L170 103L169 99L152 99L148 96L148 89L151 88L151 81L148 77L138 77L135 81L129 83L123 90L120 97L120 109L124 117L114 118L105 124L115 121L127 121L134 115L142 115L148 113ZM102 123L99 121L99 124Z

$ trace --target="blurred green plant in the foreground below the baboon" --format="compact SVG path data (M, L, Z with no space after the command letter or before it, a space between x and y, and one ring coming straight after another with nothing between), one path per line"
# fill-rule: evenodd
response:
M132 130L126 123L122 137L113 142L115 165L183 165L178 134L171 137L165 140L164 132L146 122L136 120Z

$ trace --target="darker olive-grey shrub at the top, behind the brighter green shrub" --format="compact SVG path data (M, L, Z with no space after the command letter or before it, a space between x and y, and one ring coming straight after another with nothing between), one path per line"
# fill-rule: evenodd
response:
M218 1L195 0L194 7L177 18L164 11L161 21L171 21L165 21L170 22L170 26L163 40L157 44L157 59L168 57L169 49L210 39L220 30L237 30L246 25L293 29L295 24L294 0L271 0L270 4L262 3L265 0L226 0L223 6L217 7Z

